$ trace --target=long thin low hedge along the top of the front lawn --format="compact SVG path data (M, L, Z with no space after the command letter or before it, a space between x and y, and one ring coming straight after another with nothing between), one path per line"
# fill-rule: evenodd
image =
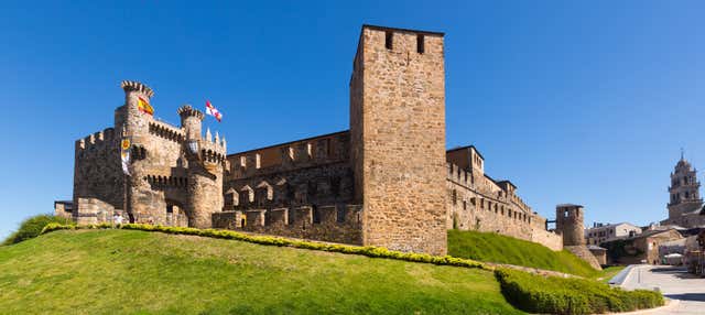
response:
M42 233L47 233L55 230L73 230L73 229L109 229L113 228L109 224L88 225L88 226L75 226L75 225L61 225L50 224L42 230ZM258 245L278 246L278 247L291 247L300 249L322 250L329 252L339 252L348 254L362 254L370 258L387 258L411 262L433 263L438 265L455 265L464 268L478 268L484 270L494 270L492 267L481 262L477 262L469 259L455 258L452 256L431 256L426 253L413 253L413 252L400 252L388 250L383 247L372 246L348 246L348 245L334 245L322 243L303 240L285 239L280 237L267 237L267 236L251 236L231 230L217 230L217 229L196 229L185 227L164 227L164 226L151 226L140 224L127 224L115 226L115 228L126 230L141 230L141 231L159 231L171 235L191 235L199 237L219 238L219 239L232 239L239 241L246 241Z

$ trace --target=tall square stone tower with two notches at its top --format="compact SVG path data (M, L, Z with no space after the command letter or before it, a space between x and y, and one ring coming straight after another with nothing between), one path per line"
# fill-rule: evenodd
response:
M446 253L443 36L362 26L350 146L365 245Z

